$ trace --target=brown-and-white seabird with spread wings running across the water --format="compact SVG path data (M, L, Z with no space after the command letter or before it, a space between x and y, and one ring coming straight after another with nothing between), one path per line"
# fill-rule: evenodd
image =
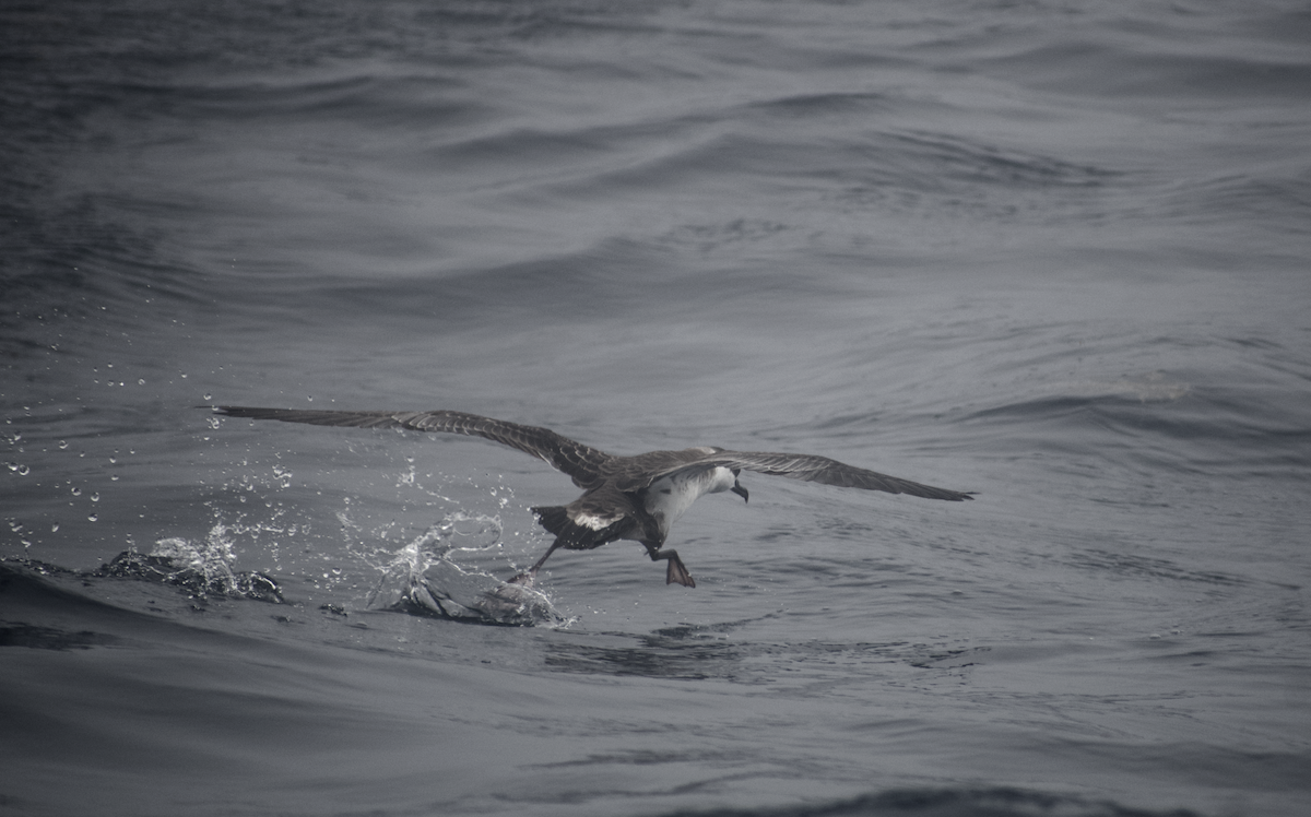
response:
M909 493L929 500L960 502L973 498L973 492L922 485L813 454L728 451L699 446L682 451L615 456L561 437L551 429L463 412L340 412L241 405L211 408L216 414L250 420L485 437L545 460L569 475L574 485L583 489L583 494L569 505L531 509L541 527L555 534L556 540L538 564L511 580L517 582L527 582L535 577L556 548L589 551L616 539L629 539L640 542L652 561L667 561L665 584L678 582L695 588L696 582L678 557L678 551L665 547L669 528L703 494L732 490L746 501L747 490L738 483L742 471L842 488Z

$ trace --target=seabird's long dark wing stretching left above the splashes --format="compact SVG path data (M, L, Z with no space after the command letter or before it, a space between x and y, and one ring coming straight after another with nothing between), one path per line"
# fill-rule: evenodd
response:
M614 459L604 451L556 434L551 429L519 425L463 412L336 412L319 409L269 409L244 405L212 407L218 414L250 420L281 420L311 425L358 429L412 429L484 437L547 463L573 477L574 485L591 488L600 480L599 468Z

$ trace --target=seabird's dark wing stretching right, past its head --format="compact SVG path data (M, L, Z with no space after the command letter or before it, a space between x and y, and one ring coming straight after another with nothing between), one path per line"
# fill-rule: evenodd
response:
M865 490L886 490L888 493L909 493L912 497L924 497L928 500L949 500L952 502L960 502L961 500L974 498L970 496L971 492L948 490L947 488L922 485L920 483L888 476L886 473L878 473L877 471L856 468L855 466L839 463L838 460L829 459L827 456L817 456L814 454L771 454L767 451L716 451L714 454L708 454L695 462L673 466L670 468L665 468L663 471L652 473L649 479L644 477L644 481L645 485L650 485L656 480L674 473L704 471L707 468L716 467L755 471L756 473L768 473L772 476L787 476L794 480L805 480L808 483L838 485L839 488L863 488ZM621 485L621 488L633 490L645 485L633 485L632 488Z

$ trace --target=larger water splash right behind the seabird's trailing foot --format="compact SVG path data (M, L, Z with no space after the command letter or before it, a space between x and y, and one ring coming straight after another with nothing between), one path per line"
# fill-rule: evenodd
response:
M565 624L531 580L506 582L451 559L452 553L486 552L499 546L499 519L448 514L399 551L376 551L366 557L383 574L367 606L482 624ZM382 561L379 556L389 559Z

